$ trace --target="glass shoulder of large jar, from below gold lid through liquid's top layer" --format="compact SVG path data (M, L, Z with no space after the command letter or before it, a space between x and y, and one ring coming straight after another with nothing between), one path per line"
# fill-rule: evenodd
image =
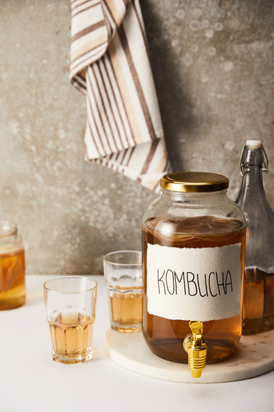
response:
M164 233L225 233L245 227L245 216L225 191L213 194L162 193L143 218L143 229Z

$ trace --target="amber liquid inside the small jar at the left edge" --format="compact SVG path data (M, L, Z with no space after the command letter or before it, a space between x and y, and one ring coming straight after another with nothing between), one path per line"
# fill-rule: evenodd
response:
M25 304L25 253L0 248L0 310Z

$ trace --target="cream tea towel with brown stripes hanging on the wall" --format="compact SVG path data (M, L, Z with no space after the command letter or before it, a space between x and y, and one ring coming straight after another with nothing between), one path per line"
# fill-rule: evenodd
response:
M71 0L70 80L86 94L86 159L156 190L170 170L138 0Z

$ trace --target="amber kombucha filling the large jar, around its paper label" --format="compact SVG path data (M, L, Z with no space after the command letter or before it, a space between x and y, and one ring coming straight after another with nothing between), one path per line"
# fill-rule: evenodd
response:
M160 233L162 224L169 226L169 233ZM171 320L149 314L147 311L147 244L167 247L206 248L241 244L241 267L243 277L245 259L245 227L238 220L215 218L213 216L193 217L186 220L149 218L142 226L144 250L144 304L142 330L151 351L169 361L186 363L187 354L183 341L190 334L188 321ZM191 319L199 320L199 319ZM221 361L232 352L242 331L242 302L240 314L228 319L203 322L203 331L208 345L207 362Z

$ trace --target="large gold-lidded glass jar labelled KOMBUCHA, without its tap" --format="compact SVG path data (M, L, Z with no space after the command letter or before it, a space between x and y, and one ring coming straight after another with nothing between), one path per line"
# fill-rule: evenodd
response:
M245 216L225 176L166 174L142 223L142 331L151 351L186 363L189 321L203 322L207 362L236 348L242 331Z

